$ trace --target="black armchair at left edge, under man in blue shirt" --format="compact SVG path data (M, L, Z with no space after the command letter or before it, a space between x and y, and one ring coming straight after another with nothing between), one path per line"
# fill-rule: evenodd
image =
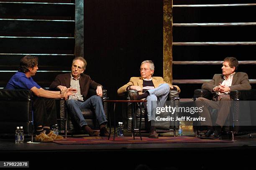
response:
M0 90L0 134L14 134L17 126L23 126L33 140L32 96L30 90Z

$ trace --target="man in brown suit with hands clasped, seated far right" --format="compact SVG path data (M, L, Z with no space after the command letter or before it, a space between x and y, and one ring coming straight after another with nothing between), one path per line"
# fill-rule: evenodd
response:
M203 97L199 97L196 100L198 106L204 106L200 116L205 117L205 121L201 122L201 125L207 126L207 132L201 136L202 139L220 139L221 129L230 113L230 91L251 89L248 75L243 72L235 72L238 69L236 58L225 58L221 69L222 74L215 74L211 81L202 85L202 89L207 89L213 93L213 100L220 102L211 101ZM218 109L216 122L211 120L209 107Z

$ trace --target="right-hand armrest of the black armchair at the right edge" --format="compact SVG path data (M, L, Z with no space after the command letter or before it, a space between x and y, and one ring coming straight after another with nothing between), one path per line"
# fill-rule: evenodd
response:
M231 100L256 100L256 89L230 91Z

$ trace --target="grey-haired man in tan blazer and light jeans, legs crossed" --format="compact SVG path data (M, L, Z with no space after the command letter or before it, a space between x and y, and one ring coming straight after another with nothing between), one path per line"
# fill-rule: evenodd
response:
M150 123L150 138L158 138L155 129L156 121L156 102L159 101L163 105L168 97L170 89L180 92L178 86L167 84L162 77L152 77L154 74L154 63L150 60L141 63L141 77L131 77L130 81L118 89L118 95L128 90L137 90L139 95L131 96L132 100L146 99L146 108L148 111L148 121Z

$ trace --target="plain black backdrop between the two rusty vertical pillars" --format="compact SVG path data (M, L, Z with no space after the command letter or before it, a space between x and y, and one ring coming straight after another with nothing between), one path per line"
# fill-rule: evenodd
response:
M84 1L86 74L108 90L110 99L132 76L140 76L144 60L163 76L162 0Z

